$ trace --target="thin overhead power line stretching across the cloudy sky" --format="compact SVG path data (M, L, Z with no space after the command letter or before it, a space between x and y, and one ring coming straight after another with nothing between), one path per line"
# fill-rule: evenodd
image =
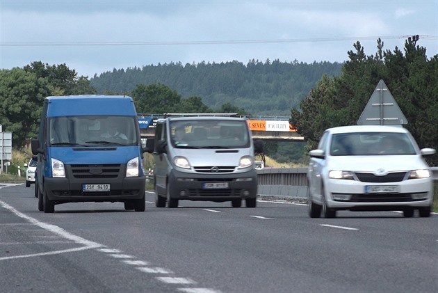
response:
M233 45L233 44L267 44L284 42L342 42L360 40L394 40L409 38L412 35L386 35L371 37L343 38L296 38L275 40L205 40L205 41L142 41L142 42L0 42L3 47L33 47L33 46L173 46L173 45ZM421 40L438 40L434 35L419 35Z

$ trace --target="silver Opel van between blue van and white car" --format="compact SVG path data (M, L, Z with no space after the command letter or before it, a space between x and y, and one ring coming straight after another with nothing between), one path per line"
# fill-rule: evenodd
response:
M154 155L156 207L179 200L231 201L256 207L254 144L244 118L224 114L171 115L147 138ZM153 145L153 147L152 147ZM261 150L256 150L261 152Z

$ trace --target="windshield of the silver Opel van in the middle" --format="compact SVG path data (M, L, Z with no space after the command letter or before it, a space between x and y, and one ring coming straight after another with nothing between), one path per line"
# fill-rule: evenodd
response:
M170 132L175 148L250 147L245 120L171 120Z

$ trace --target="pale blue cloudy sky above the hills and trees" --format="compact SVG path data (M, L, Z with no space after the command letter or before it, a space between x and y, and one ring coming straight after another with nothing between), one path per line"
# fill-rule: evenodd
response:
M348 61L404 52L405 41L438 54L438 0L0 0L0 70L35 61L78 76L165 63L253 59Z

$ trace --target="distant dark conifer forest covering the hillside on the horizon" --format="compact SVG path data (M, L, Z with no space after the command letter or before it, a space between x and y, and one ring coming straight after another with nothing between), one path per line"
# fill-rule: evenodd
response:
M230 103L251 115L290 116L321 78L341 74L342 63L252 60L226 63L165 63L95 74L99 94L128 94L139 84L163 84L181 97L200 97L211 109Z

